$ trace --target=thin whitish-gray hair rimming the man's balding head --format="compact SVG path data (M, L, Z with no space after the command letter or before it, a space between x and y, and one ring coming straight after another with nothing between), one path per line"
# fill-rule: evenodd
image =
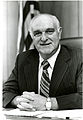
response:
M32 33L33 23L34 23L34 21L35 21L37 18L39 18L39 17L41 17L41 16L45 16L45 17L47 16L47 17L49 17L50 19L53 20L53 24L54 24L54 26L57 28L57 30L60 28L60 22L59 22L59 20L58 20L58 18L57 18L56 16L51 15L51 14L38 14L38 15L36 15L36 16L31 20L30 25L29 25L29 32L30 32L30 35L31 35L32 38L33 38L33 33Z

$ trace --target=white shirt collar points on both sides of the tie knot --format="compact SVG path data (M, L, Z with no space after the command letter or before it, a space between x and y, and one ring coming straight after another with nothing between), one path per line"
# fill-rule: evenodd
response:
M55 62L56 62L57 56L58 56L58 54L59 54L59 52L60 52L60 49L61 49L61 45L59 44L59 47L58 47L56 53L55 53L52 57L50 57L49 59L47 59L47 61L48 61L49 64L50 64L50 68L51 68L51 69L54 68L54 64L55 64ZM41 67L41 63L44 61L44 59L41 57L40 54L39 54L39 60L40 60L40 63L39 63L39 68L40 68L40 67Z

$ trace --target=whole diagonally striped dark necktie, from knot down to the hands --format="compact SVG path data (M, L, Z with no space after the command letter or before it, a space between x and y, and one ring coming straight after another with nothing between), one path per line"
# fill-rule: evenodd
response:
M50 79L47 69L50 66L50 64L48 61L43 61L42 65L43 65L43 72L40 83L40 94L45 97L49 97Z

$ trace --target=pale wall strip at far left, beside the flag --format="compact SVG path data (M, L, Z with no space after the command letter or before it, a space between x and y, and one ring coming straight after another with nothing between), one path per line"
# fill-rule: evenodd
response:
M3 44L3 81L6 81L14 67L18 34L18 2L4 2L6 30Z

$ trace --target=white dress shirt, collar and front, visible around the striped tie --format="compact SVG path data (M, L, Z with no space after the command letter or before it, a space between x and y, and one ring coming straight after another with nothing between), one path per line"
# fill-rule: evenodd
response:
M51 80L51 76L52 76L52 72L53 72L53 68L57 59L57 56L60 52L61 49L61 45L59 45L58 50L56 51L56 53L50 57L49 59L47 59L47 61L49 62L50 66L48 68L48 73L49 73L49 78ZM41 55L39 54L39 70L38 70L38 94L40 94L40 81L41 81L41 76L42 76L42 71L43 71L43 66L41 65L41 63L44 61L44 59L41 57Z

